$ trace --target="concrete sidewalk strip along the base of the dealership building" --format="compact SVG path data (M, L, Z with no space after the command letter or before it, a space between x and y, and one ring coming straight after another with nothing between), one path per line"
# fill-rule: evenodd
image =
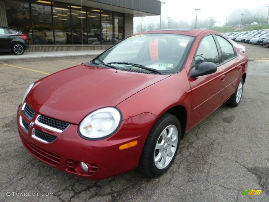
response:
M27 59L27 58L51 58L51 57L68 57L81 55L99 55L105 50L90 51L57 51L57 52L25 52L23 55L14 55L13 53L0 53L0 60L4 59Z

